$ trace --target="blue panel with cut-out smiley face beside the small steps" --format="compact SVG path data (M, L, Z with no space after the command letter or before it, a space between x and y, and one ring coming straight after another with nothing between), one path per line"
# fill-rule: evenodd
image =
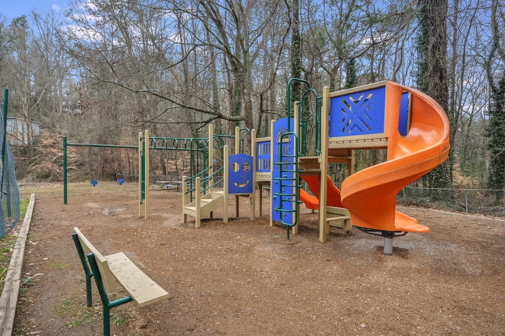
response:
M252 193L252 156L236 154L228 160L228 193Z

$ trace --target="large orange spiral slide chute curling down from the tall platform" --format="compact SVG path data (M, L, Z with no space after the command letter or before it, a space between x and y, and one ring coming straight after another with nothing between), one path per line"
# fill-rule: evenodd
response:
M402 92L412 94L410 131L398 133ZM385 137L387 161L347 177L341 199L352 225L381 231L428 232L417 220L396 210L396 194L440 165L449 154L449 121L435 100L424 93L386 82Z

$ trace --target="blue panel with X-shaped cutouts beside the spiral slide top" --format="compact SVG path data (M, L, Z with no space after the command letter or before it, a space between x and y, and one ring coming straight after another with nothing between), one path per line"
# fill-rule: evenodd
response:
M384 133L386 87L330 99L330 138Z

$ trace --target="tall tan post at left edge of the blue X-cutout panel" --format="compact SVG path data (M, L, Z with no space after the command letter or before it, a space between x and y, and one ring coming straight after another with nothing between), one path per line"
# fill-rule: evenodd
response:
M323 106L321 110L321 183L319 190L319 240L326 240L326 233L329 230L329 225L326 222L326 190L328 188L328 119L329 119L329 93L330 89L325 86L323 88Z

